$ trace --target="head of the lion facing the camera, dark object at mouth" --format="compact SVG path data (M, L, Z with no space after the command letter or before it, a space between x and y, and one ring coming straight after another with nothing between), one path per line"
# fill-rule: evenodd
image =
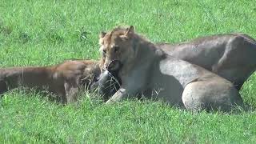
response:
M134 26L117 27L108 33L102 32L99 44L102 52L101 67L106 70L117 70L120 65L110 65L111 62L120 62L122 65L134 57Z

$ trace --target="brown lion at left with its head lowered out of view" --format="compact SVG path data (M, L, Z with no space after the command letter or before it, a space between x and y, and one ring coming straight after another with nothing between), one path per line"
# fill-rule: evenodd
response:
M68 60L56 66L0 69L0 94L18 86L48 87L63 104L76 102L82 85L90 86L101 73L94 60Z

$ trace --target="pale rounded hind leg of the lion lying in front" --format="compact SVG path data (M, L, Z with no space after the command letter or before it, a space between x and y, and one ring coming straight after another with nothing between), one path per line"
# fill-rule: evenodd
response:
M192 111L230 111L243 103L238 90L230 82L218 80L191 82L182 93L182 102L187 110Z

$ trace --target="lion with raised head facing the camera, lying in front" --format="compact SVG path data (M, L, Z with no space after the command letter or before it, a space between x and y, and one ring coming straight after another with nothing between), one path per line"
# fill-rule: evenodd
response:
M105 53L104 66L117 69L110 62L120 62L120 89L106 103L146 92L187 110L231 110L242 106L242 98L233 84L200 66L174 58L152 42L128 29L115 28L100 38ZM111 66L111 67L108 67Z

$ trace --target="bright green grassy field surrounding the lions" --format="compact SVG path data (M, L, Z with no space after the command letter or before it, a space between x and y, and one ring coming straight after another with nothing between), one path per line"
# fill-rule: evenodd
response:
M134 25L154 42L183 42L242 32L256 38L253 0L2 0L0 66L47 66L69 58L99 58L98 34ZM241 90L256 108L256 74ZM202 112L130 100L104 105L82 94L59 106L33 90L0 100L0 143L254 143L256 113Z

